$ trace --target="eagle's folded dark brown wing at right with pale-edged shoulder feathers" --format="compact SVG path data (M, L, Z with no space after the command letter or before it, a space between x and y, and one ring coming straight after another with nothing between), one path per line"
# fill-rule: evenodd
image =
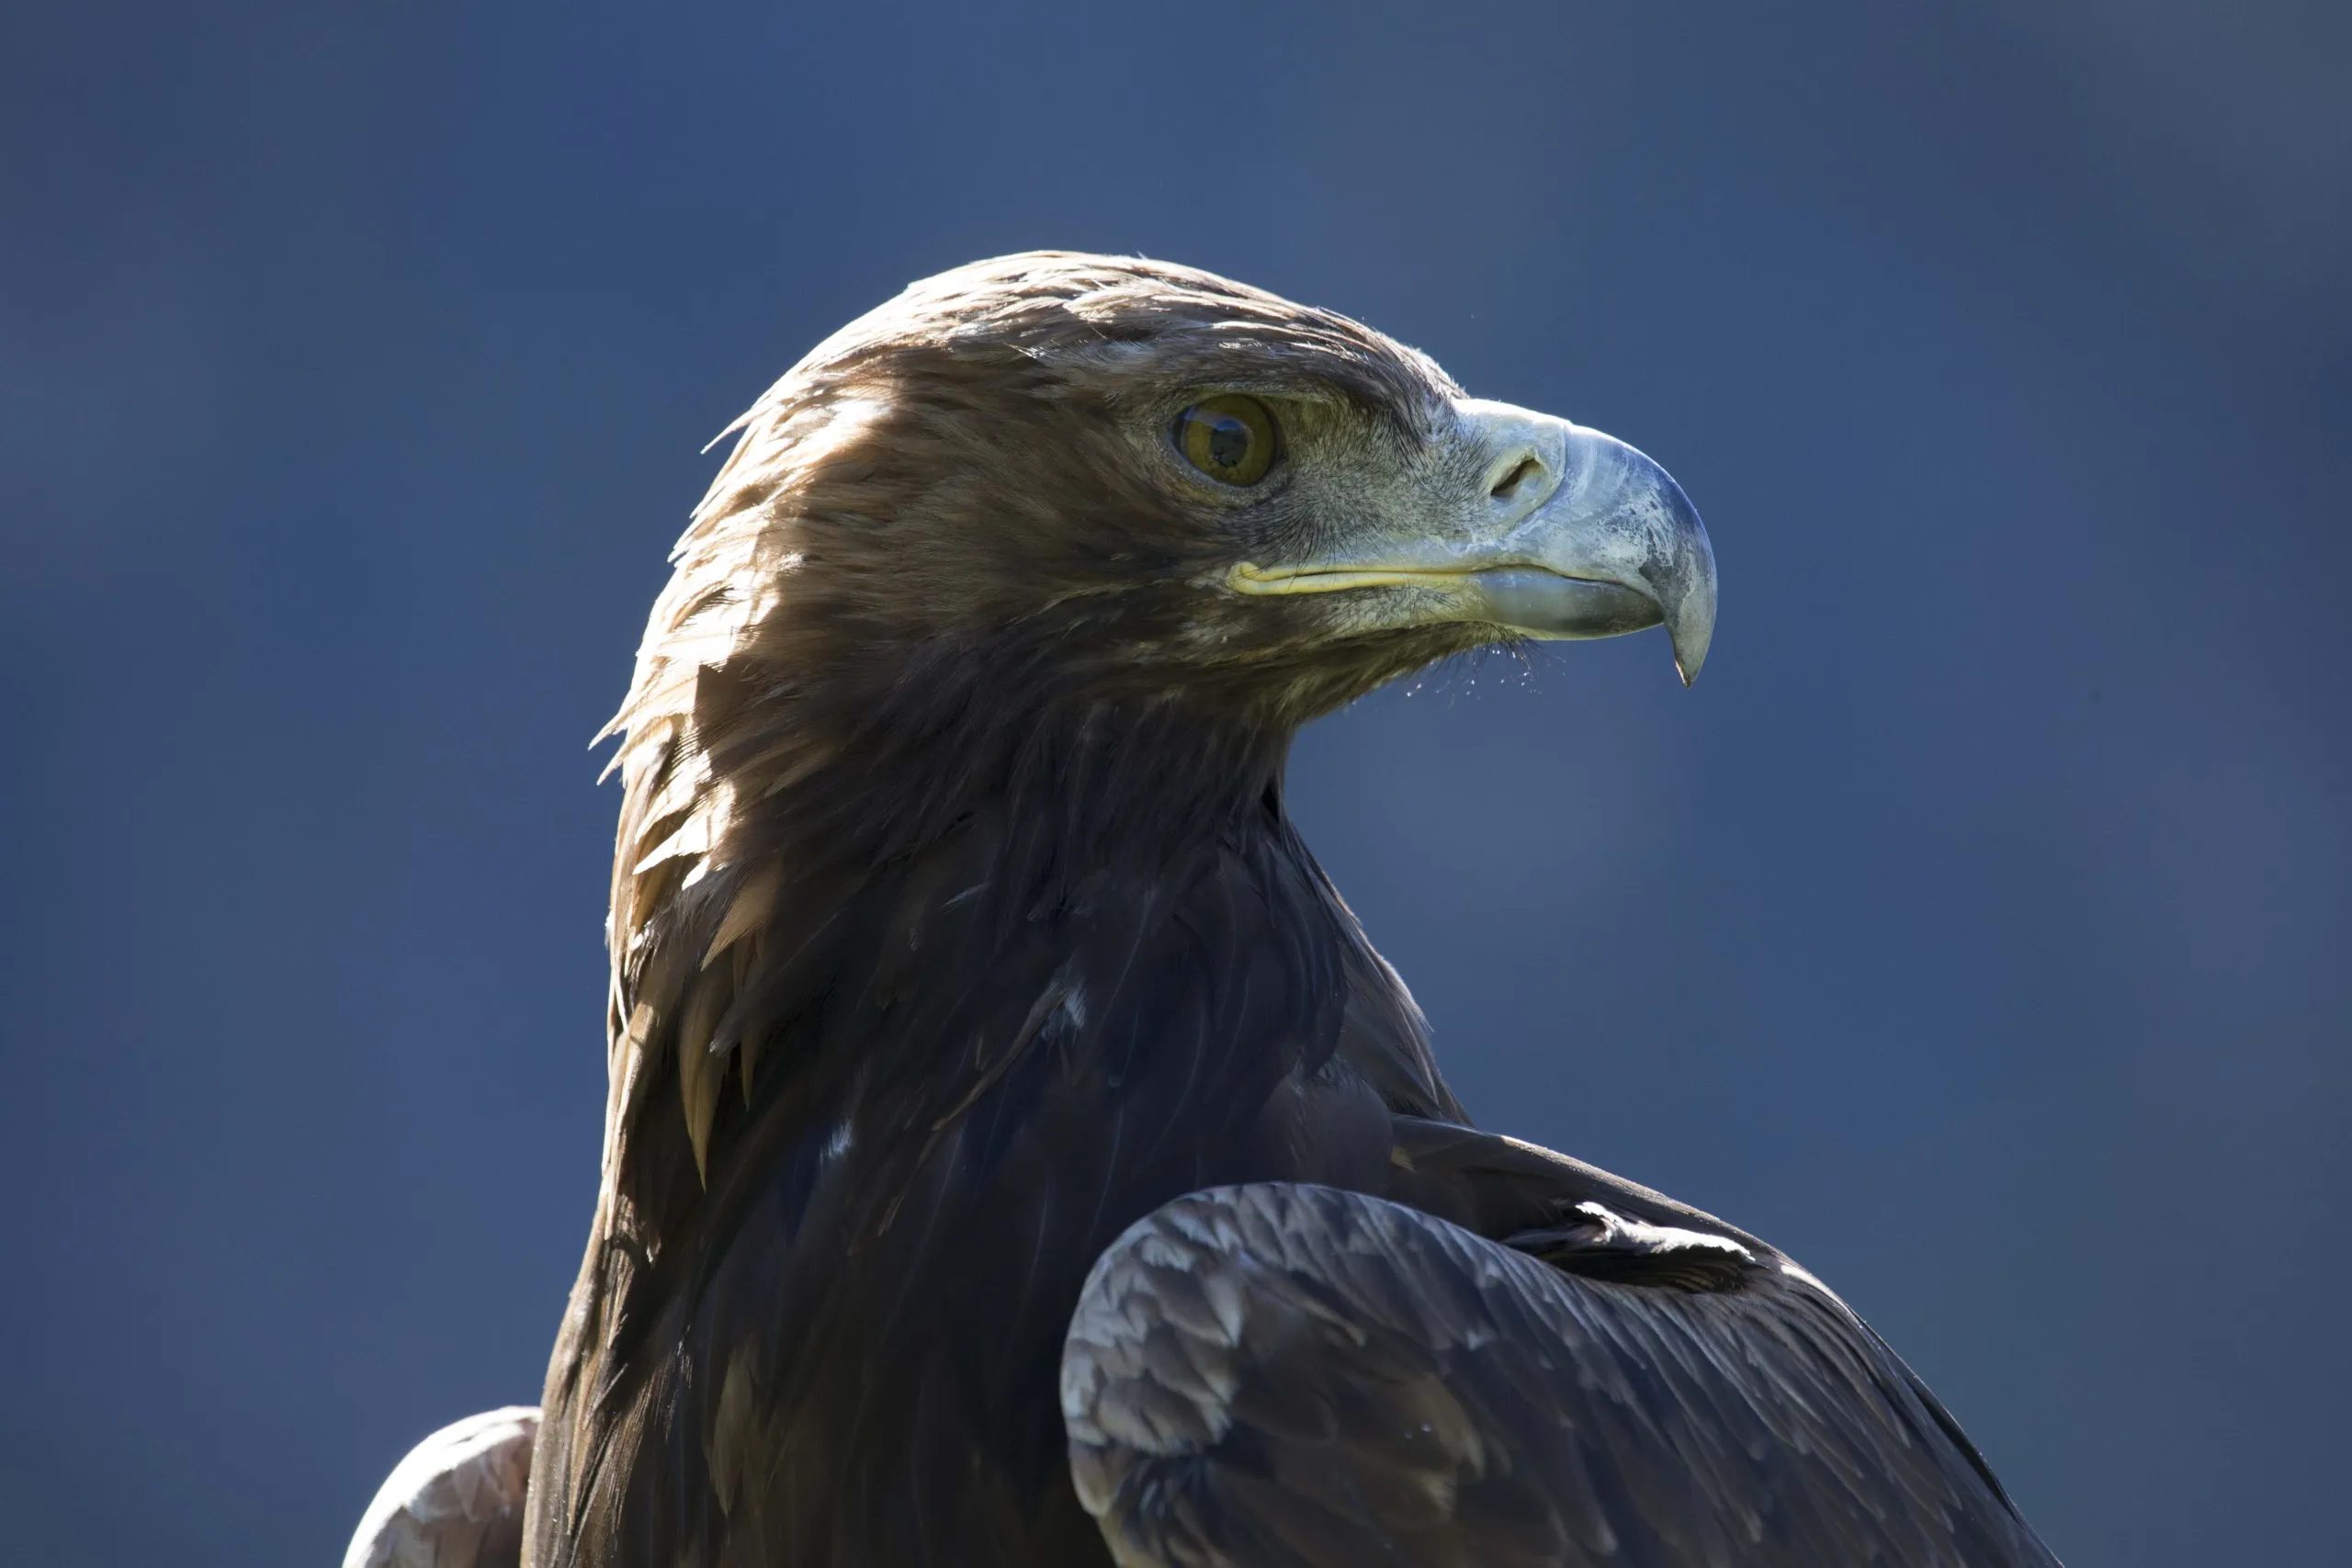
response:
M1543 1154L1458 1131L1456 1152ZM1562 1166L1588 1194L1559 1194L1581 1218L1538 1246L1564 1267L1312 1185L1200 1192L1129 1229L1063 1352L1070 1465L1112 1556L2056 1563L1933 1396L1809 1274L1722 1225L1642 1220L1653 1194ZM1606 1255L1604 1274L1578 1251ZM1632 1284L1642 1253L1658 1272Z

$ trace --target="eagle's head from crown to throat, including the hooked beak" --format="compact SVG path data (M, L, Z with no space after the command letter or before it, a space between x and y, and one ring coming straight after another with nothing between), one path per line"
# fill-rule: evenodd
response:
M1691 679L1715 623L1705 529L1646 456L1192 268L941 273L736 430L633 708L727 663L861 708L985 665L1296 724L1479 644L1661 621Z

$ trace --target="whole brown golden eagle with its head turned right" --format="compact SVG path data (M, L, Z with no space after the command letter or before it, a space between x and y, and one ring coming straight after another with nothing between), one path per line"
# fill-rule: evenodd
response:
M1811 1274L1470 1128L1284 809L1301 724L1451 654L1663 623L1696 677L1663 468L1054 252L736 430L612 724L604 1173L527 1493L501 1413L353 1561L517 1519L534 1568L2053 1561Z

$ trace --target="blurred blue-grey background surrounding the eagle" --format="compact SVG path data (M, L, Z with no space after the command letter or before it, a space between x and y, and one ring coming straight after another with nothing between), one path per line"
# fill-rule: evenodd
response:
M19 7L0 1561L322 1563L536 1396L586 741L774 374L1148 252L1665 461L1724 611L1310 731L1494 1126L1759 1229L2077 1568L2352 1472L2352 9Z

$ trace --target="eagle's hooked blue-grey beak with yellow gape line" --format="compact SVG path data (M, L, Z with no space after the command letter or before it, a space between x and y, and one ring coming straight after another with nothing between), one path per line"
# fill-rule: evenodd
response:
M1298 567L1240 564L1249 595L1414 588L1397 623L1472 621L1519 637L1665 625L1682 682L1715 637L1715 550L1675 477L1599 430L1505 402L1458 404L1484 494L1425 538Z

